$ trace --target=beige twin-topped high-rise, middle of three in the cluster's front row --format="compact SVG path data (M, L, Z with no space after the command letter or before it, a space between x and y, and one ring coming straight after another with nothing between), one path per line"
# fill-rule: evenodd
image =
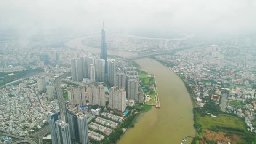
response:
M105 89L103 85L90 85L88 88L89 104L90 105L99 105L104 107L106 104L105 100Z

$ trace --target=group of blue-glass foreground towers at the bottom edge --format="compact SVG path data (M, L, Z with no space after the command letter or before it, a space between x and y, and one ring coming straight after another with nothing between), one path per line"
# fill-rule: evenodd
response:
M59 111L48 115L52 144L71 144L71 140L88 144L87 115L80 112L80 105L66 102L66 115L66 122L61 120Z

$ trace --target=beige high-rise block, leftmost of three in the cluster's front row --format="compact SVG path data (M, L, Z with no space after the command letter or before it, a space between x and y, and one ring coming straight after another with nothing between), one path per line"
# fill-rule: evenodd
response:
M86 105L85 99L85 87L80 86L77 88L69 88L67 90L67 94L69 96L69 101L80 104L80 106Z

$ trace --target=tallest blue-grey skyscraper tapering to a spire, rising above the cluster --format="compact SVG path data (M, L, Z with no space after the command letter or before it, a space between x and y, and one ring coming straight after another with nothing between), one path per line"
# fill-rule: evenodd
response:
M106 44L106 36L104 30L104 21L103 27L101 29L101 59L105 60L105 75L107 74L107 44Z

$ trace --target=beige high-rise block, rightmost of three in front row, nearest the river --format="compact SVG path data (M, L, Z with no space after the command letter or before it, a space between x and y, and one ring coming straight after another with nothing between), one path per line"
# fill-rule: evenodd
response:
M109 90L109 108L110 109L117 109L121 112L125 111L126 108L126 91L124 88L117 88L112 87Z

